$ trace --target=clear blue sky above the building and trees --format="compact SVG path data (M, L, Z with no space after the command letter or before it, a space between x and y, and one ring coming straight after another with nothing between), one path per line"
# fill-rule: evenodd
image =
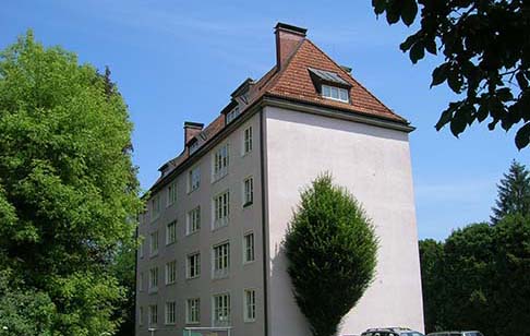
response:
M332 5L333 3L333 5ZM147 189L158 167L182 149L185 120L207 123L248 76L275 62L273 27L306 27L308 36L388 107L418 129L411 134L420 238L485 220L502 173L518 152L514 132L474 125L455 139L434 130L451 93L429 88L436 60L412 65L398 46L412 31L376 20L371 1L70 1L4 0L0 48L33 28L81 62L109 65L135 124L134 163Z

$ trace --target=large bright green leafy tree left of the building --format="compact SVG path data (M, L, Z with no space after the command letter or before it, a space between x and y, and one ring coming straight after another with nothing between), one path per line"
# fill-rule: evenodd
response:
M53 335L120 322L109 266L142 207L131 131L116 87L75 55L32 32L0 53L0 268L51 300Z

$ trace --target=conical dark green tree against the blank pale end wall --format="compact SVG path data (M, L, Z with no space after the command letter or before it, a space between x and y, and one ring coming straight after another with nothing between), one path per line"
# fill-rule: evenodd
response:
M335 335L374 277L373 225L356 199L323 175L302 192L285 251L294 298L313 335Z

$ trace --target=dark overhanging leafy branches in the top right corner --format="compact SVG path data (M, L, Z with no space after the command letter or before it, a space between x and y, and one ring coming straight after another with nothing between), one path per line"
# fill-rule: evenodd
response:
M410 26L421 7L419 29L401 45L417 63L425 51L444 62L432 73L432 86L447 82L458 98L436 123L455 136L473 122L494 130L517 125L515 143L530 143L530 4L525 0L372 0L389 24Z

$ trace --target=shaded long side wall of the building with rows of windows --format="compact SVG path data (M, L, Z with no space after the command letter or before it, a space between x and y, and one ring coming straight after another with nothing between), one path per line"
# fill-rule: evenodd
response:
M253 151L242 156L243 130L253 128ZM225 143L229 143L230 164L228 175L212 183L212 163L214 151ZM141 237L145 238L144 256L138 256L137 273L144 275L144 290L137 290L137 307L143 307L143 325L136 324L137 336L150 336L148 326L148 305L158 305L158 323L155 326L155 335L174 336L182 335L185 326L185 300L188 298L201 298L201 324L190 326L212 326L212 296L220 292L229 292L231 299L231 321L234 327L232 336L263 335L264 334L264 311L263 311L263 250L262 250L262 189L260 175L260 124L257 115L246 120L241 127L222 140L216 147L204 155L194 166L201 169L201 185L198 190L188 193L188 171L177 177L178 200L176 204L166 207L167 189L159 192L161 195L161 214L150 220L152 204L148 204L148 212L142 216L142 224L138 228ZM243 208L243 179L249 176L254 178L254 202L253 205ZM230 223L227 227L212 230L213 221L213 196L229 189L230 190ZM154 195L152 195L154 196ZM191 236L185 236L186 213L201 205L201 230ZM178 235L177 242L166 245L166 225L177 219ZM149 235L159 231L159 249L157 256L149 256ZM243 235L253 231L255 241L255 262L243 265ZM219 242L230 241L230 272L228 278L212 278L212 247ZM201 276L195 279L185 278L185 259L189 253L201 252ZM177 260L177 283L165 285L165 265L171 260ZM149 293L148 272L157 265L159 272L158 292ZM253 288L256 290L256 321L253 323L243 322L243 289ZM177 302L177 323L165 325L166 301ZM137 321L137 320L136 320Z

